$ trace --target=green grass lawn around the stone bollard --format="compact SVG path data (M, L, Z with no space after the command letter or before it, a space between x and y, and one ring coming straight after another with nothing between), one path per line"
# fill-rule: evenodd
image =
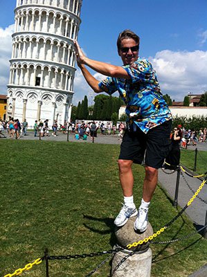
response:
M116 163L119 145L48 141L0 141L0 276L44 256L91 253L111 249L114 217L123 201ZM190 160L183 154L182 162ZM193 153L192 153L193 155ZM193 166L194 163L192 163ZM188 166L188 165L186 165ZM144 168L134 165L134 198L141 200ZM154 231L177 215L156 188L149 220ZM179 217L155 241L195 231ZM152 277L184 277L206 264L207 240L195 235L173 244L152 245ZM84 277L107 256L50 260L50 277ZM109 263L94 276L109 276ZM45 262L21 276L43 277Z

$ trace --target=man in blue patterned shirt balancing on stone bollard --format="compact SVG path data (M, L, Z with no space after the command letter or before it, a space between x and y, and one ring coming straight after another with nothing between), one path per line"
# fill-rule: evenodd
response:
M147 213L156 188L158 169L170 148L172 115L161 94L152 64L138 57L139 40L131 30L124 30L118 36L118 55L123 66L91 60L82 53L78 42L74 43L78 66L91 88L96 93L106 91L109 95L118 90L127 105L127 129L118 159L124 205L114 224L123 226L129 217L137 215L134 229L143 232L147 229ZM99 82L86 65L109 77ZM133 197L132 163L141 164L144 157L143 199L137 211Z

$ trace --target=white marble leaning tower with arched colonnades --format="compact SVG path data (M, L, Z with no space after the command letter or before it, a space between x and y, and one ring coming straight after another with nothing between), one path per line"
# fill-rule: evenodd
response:
M71 118L82 0L17 0L7 116L64 124Z

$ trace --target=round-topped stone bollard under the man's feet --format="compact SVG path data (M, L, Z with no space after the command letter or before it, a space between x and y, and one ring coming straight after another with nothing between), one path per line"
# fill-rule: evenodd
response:
M130 217L128 222L118 228L115 235L118 242L116 247L126 247L127 244L144 240L153 235L153 229L148 223L147 230L143 233L134 231L136 217ZM152 250L150 242L118 251L112 260L111 277L150 277L152 266ZM114 247L114 248L116 248Z

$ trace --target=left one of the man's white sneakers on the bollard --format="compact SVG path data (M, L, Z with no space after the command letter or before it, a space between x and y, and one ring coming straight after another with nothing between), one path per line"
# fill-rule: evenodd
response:
M123 207L120 210L120 213L117 215L114 220L114 224L118 227L123 226L129 220L129 217L133 217L137 215L138 211L136 210L136 206L134 205L132 208L123 204Z

